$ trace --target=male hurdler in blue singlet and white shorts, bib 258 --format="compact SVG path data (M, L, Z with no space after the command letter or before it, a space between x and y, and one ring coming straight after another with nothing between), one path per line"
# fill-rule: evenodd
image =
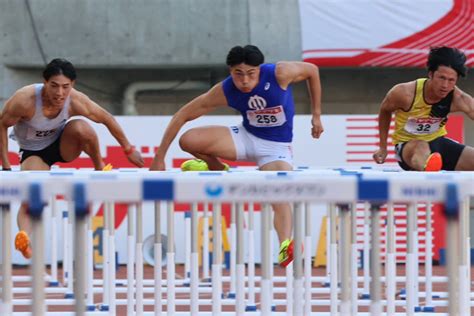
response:
M183 170L224 170L219 158L257 163L260 170L292 170L294 104L291 84L307 80L311 98L312 136L319 138L321 85L318 68L305 62L264 64L253 45L235 46L227 55L230 76L182 107L172 118L155 155L151 170L165 170L165 156L181 127L214 109L230 106L242 115L239 126L203 126L186 131L181 148L198 158ZM280 240L279 262L293 259L291 206L272 204L275 230Z

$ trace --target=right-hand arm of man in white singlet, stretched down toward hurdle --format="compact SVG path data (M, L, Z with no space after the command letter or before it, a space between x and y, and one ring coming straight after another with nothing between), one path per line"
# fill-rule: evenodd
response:
M71 102L71 116L81 115L96 123L104 124L110 134L122 146L128 161L139 168L143 167L144 162L140 153L130 144L114 116L92 101L87 95L79 91L74 91L73 93L75 95Z

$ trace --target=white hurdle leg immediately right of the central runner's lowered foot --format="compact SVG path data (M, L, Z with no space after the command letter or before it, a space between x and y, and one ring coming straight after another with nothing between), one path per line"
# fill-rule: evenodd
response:
M303 244L303 203L295 203L293 208L293 315L303 314L303 253L301 245Z

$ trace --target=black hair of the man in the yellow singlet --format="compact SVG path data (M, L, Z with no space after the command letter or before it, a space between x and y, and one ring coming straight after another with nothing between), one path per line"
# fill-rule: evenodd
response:
M466 55L453 47L432 47L426 65L428 71L434 72L439 66L447 66L453 68L458 76L465 77L467 74Z

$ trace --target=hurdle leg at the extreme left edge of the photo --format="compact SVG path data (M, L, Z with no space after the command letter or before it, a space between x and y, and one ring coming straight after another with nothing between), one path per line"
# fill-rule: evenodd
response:
M12 293L12 225L11 212L8 204L0 204L2 216L2 300L0 313L10 315L13 312Z

